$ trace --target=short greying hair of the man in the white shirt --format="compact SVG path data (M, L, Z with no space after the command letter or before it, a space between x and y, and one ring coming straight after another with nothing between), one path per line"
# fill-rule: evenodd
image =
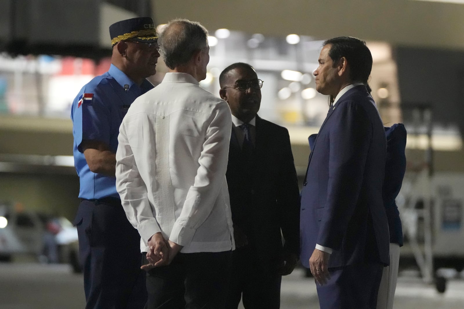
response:
M208 31L200 23L188 19L174 19L158 38L161 55L169 69L190 61L193 54L208 45Z

